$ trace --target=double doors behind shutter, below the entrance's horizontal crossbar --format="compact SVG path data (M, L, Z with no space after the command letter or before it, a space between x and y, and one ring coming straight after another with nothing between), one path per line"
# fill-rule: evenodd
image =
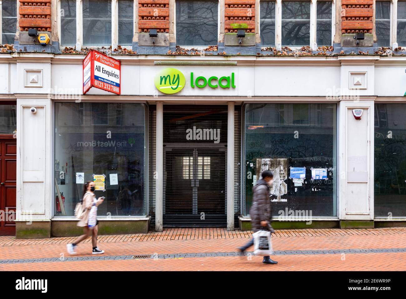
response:
M164 225L225 226L226 151L164 151Z

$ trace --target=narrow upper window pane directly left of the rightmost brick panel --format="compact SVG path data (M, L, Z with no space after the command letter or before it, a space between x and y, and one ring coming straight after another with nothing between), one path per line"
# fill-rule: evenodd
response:
M317 46L331 46L332 7L331 1L317 1Z

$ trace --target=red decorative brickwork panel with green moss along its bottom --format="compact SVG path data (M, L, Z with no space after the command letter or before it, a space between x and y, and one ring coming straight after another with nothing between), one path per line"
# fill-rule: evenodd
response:
M225 0L225 32L255 33L255 0Z

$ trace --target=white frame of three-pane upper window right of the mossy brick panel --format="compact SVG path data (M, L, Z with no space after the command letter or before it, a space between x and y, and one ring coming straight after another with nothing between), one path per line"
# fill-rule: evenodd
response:
M257 2L257 5L260 5L261 1L266 1L266 0L259 0ZM275 6L275 48L276 50L280 51L282 49L282 1L309 1L309 0L275 0L276 1L276 6ZM317 1L329 1L331 2L331 45L333 45L333 40L334 40L334 33L335 33L335 0L310 0L310 40L309 40L309 45L313 51L317 50L317 35L316 35L316 30L317 30ZM258 11L258 33L260 34L260 29L261 29L261 20L260 20L260 7ZM292 50L298 50L302 46L289 46L289 48ZM262 46L266 47L266 46Z

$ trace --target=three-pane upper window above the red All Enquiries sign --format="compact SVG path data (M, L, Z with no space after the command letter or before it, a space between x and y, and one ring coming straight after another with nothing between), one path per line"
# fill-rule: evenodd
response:
M133 35L134 0L60 0L61 46L131 46Z

